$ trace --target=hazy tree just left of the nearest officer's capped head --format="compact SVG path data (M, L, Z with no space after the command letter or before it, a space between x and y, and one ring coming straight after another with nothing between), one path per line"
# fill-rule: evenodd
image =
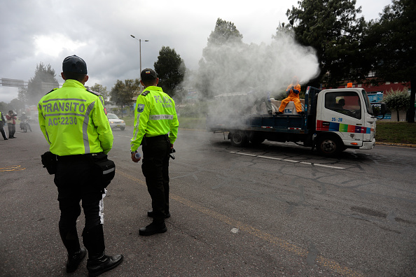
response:
M55 70L48 64L45 66L42 62L36 66L34 77L29 80L27 85L27 100L29 104L37 104L38 101L59 83L55 78Z

